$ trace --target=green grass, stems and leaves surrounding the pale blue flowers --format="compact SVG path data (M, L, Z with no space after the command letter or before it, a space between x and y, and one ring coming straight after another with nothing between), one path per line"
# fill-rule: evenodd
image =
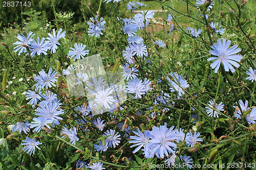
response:
M32 122L37 106L32 107L28 104L24 92L33 90L35 75L38 75L41 69L48 70L50 67L61 75L61 71L66 69L67 65L74 63L67 57L74 43L86 44L90 54L100 53L106 70L119 69L120 65L126 62L123 58L123 50L127 46L127 36L123 34L122 21L116 18L130 18L135 14L126 10L125 1L119 4L106 4L89 0L81 2L37 0L31 3L31 7L1 7L0 28L5 27L5 29L1 30L0 38L9 48L0 44L0 66L4 68L0 70L2 83L0 138L5 138L8 142L5 147L0 145L0 169L74 169L78 160L87 161L88 164L99 160L105 161L109 163L104 162L104 167L108 166L106 169L152 169L149 167L150 164L163 165L166 159L146 159L141 150L133 154L134 148L131 148L126 137L127 133L122 129L139 128L144 132L165 122L168 123L168 127L175 126L186 132L189 130L200 132L203 138L203 142L196 144L195 148L186 147L185 142L177 143L177 164L182 163L178 155L190 155L197 164L216 165L217 168L213 169L221 169L219 168L221 164L228 163L256 163L254 147L256 126L248 125L245 119L249 111L244 112L245 116L241 119L233 116L235 112L233 106L238 99L247 100L250 108L256 103L255 82L251 83L245 79L247 77L245 71L249 67L253 69L256 67L254 1L246 4L215 1L214 10L208 11L209 18L206 20L201 17L195 2L185 0L143 2L147 7L141 7L142 10L161 9L168 12L156 13L155 18L159 24L151 21L148 28L137 32L137 35L143 38L149 53L145 59L135 58L138 74L151 80L154 90L147 93L143 99L127 100L121 105L123 110L116 110L113 113L118 119L114 120L108 113L100 115L107 123L108 129L116 129L121 134L119 147L102 153L94 150L93 145L98 144L99 140L105 143L106 137L103 137L103 132L93 125L94 118L82 116L75 110L77 106L86 104L87 99L70 95L66 77L59 76L57 86L49 90L58 94L58 100L62 103L61 108L65 109L63 120L51 130L43 129L39 133L29 133L37 141L43 142L40 145L41 150L37 150L32 156L24 153L22 150L24 146L20 145L27 135L23 132L22 134L12 132L8 126L27 120ZM2 4L3 0L0 0L0 3ZM106 21L106 30L102 36L90 37L87 34L87 21L97 15L97 11ZM167 23L166 17L170 12L174 15L174 19ZM66 15L69 16L65 18ZM216 34L210 29L208 24L211 21L221 23L225 33ZM168 34L171 23L175 24L175 29ZM201 28L203 31L200 37L193 37L186 31L187 27ZM17 41L17 34L26 35L29 31L33 31L36 34L33 38L37 36L42 38L52 33L54 28L55 30L63 28L67 31L66 37L59 40L61 45L58 46L56 53L35 55L31 58L26 53L17 55L13 52L16 46L13 43ZM207 61L210 57L208 51L211 50L211 41L217 42L219 38L231 40L232 45L238 44L242 50L241 66L233 73L224 74L219 70L216 74ZM154 43L158 39L166 42L166 48L160 48ZM151 63L146 60L150 60ZM177 99L177 94L169 89L169 82L166 79L170 72L182 74L190 85L188 89L184 89L185 94L182 99ZM157 83L159 80L162 82ZM162 90L171 95L170 102L175 102L173 106L153 104L155 97L162 95ZM211 118L205 111L208 101L213 99L217 103L223 102L225 106L225 111L220 112L219 118ZM164 108L169 110L163 113ZM151 114L154 112L160 115L152 118ZM197 119L194 119L195 122L191 119L193 114L198 114ZM77 125L78 119L82 119L86 124ZM123 127L118 127L118 123L124 123ZM77 128L79 141L76 145L70 143L67 137L58 137L63 126Z

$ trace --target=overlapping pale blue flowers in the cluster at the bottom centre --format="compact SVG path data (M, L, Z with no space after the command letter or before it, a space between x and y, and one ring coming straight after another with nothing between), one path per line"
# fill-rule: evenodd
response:
M142 150L145 158L153 158L154 156L164 158L165 156L170 156L166 159L166 162L174 164L177 155L177 144L179 142L185 141L189 147L194 147L196 143L203 141L202 138L199 138L200 133L195 132L193 134L188 132L185 134L183 131L182 129L175 129L174 126L167 128L167 124L165 123L163 126L154 127L152 131L145 130L144 133L139 129L133 131L137 136L130 136L133 140L129 142L135 143L131 147L137 147L133 153ZM186 160L185 162L192 163Z

